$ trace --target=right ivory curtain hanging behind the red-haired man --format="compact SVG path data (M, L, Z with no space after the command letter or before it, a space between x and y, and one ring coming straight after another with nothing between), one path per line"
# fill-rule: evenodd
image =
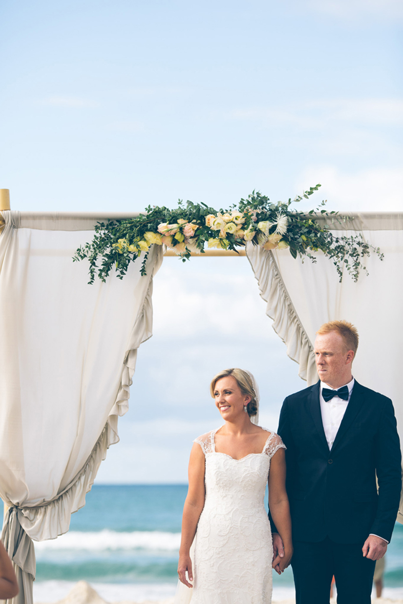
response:
M246 254L267 302L266 314L308 385L318 381L313 341L321 324L344 319L357 327L353 375L393 400L403 443L403 213L353 216L348 222L333 223L334 234L362 233L385 255L382 262L374 253L365 259L369 275L361 271L357 283L346 270L339 283L336 269L322 252L314 254L315 264L294 260L287 249L268 252L248 245ZM403 500L398 519L403 523Z

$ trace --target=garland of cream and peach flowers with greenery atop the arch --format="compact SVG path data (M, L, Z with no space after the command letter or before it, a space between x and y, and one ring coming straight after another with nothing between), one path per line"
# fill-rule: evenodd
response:
M310 187L293 202L308 199L320 186ZM94 283L96 274L105 281L113 266L117 277L122 279L129 263L142 252L146 252L141 267L141 274L145 275L151 245L166 245L183 262L191 257L192 252L203 254L205 246L237 251L248 241L266 250L289 248L294 258L298 254L301 257L306 255L313 262L315 256L312 252L320 249L333 260L340 281L343 266L355 281L360 269L366 271L361 259L369 256L370 249L382 260L379 248L365 243L361 235L336 237L326 223L319 225L316 217L323 214L332 216L333 220L348 220L337 212L323 209L325 201L308 213L292 210L290 204L291 199L272 204L269 198L253 191L247 199L241 199L238 206L232 205L229 210L221 208L217 211L206 204L193 204L191 201L186 205L179 201L179 207L174 210L149 206L136 218L97 223L93 240L77 249L73 260L90 261L89 283ZM101 260L100 266L97 266L98 259Z

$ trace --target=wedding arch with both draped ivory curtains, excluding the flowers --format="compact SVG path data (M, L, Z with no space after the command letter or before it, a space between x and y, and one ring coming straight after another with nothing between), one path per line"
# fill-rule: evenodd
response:
M8 507L2 539L18 574L15 604L31 604L33 541L67 532L108 447L119 440L117 420L128 410L137 349L152 333L152 281L164 249L150 242L131 257L125 278L112 271L90 286L88 263L71 261L76 250L97 223L139 214L20 213L1 199L0 496ZM288 246L270 249L267 240L246 241L244 253L266 314L308 384L317 379L312 342L318 325L347 318L358 326L355 375L394 400L402 438L403 213L349 216L347 222L329 214L320 220L335 236L361 234L384 253L383 262L376 254L365 259L369 276L361 271L356 282L348 276L339 282L321 249L315 263L294 259ZM262 228L268 239L277 226Z

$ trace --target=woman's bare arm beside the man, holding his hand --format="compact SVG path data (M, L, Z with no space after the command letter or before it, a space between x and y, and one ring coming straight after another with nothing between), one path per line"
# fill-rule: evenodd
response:
M284 556L277 556L273 568L281 574L290 564L292 557L291 516L286 491L286 456L278 449L270 461L269 510L284 544Z

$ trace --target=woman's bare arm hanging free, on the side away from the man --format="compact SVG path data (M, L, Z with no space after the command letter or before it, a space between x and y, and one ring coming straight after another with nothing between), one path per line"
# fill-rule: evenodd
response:
M182 538L179 549L178 574L182 583L188 587L192 585L186 580L186 571L189 579L193 580L190 547L192 545L197 522L205 505L205 454L198 443L194 443L189 460L189 489L183 506Z

